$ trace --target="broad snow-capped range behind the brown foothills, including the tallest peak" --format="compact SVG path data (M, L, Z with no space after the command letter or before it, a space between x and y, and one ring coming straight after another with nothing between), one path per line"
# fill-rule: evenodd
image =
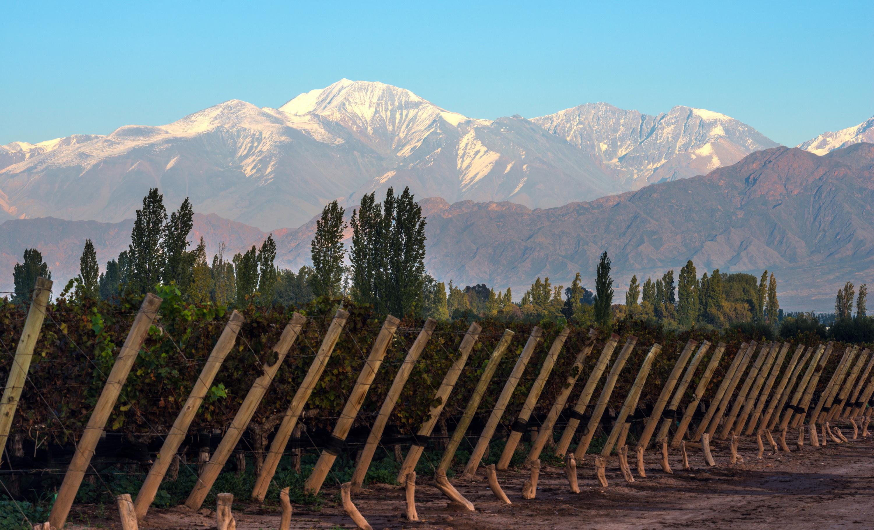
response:
M688 107L653 117L595 104L477 120L403 88L341 79L279 108L230 100L159 127L0 147L0 219L119 222L156 185L171 206L190 196L199 212L262 230L389 186L547 208L704 174L773 145Z

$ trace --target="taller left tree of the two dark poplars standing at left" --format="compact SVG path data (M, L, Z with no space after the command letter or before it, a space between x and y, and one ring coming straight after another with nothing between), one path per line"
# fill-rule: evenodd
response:
M163 195L158 193L157 188L149 189L149 194L142 199L142 209L136 210L128 245L128 283L136 293L148 293L161 283L164 267L161 237L166 220Z

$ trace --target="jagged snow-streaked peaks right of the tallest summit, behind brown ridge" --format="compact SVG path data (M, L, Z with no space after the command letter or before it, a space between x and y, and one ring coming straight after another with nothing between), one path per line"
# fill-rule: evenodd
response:
M725 114L674 107L650 116L607 103L586 103L532 119L603 162L628 189L705 175L777 144Z

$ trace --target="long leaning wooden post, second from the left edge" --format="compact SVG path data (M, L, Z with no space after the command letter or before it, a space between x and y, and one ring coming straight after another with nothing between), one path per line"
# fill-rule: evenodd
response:
M79 491L79 485L82 483L82 478L85 477L88 465L91 464L91 457L94 456L94 448L97 447L97 442L101 439L109 415L112 414L115 402L121 394L121 387L128 379L130 368L134 366L134 361L140 354L142 343L146 340L146 334L149 333L152 321L157 316L161 302L162 299L152 293L147 294L142 300L140 311L136 313L134 323L128 332L128 338L124 341L118 357L115 358L107 382L101 391L101 396L97 399L97 404L94 405L94 412L88 418L85 432L82 433L79 443L76 444L73 459L70 461L64 482L60 485L58 497L52 506L52 513L49 515L52 527L60 530L66 523L66 516L73 506L73 499L76 498L76 492Z

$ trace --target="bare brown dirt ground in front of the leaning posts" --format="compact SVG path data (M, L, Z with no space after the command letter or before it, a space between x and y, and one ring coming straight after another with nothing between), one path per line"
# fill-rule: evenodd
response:
M852 427L842 425L844 435ZM500 504L489 490L482 468L470 480L456 478L456 488L474 503L476 511L460 513L447 507L447 499L426 480L416 486L420 522L402 518L404 490L397 486L371 486L353 497L358 510L377 530L383 528L871 528L874 527L874 436L849 443L815 448L809 437L796 451L797 430L787 433L792 452L765 451L757 459L755 437L742 437L742 464L730 465L728 441L711 444L717 466L708 468L700 449L689 450L692 469L683 471L680 451L669 452L673 474L662 471L659 452L646 454L647 477L626 483L616 457L607 462L609 486L600 487L593 458L578 463L579 494L570 492L565 471L544 465L537 498L522 498L528 471L499 471L498 478L512 505ZM767 442L765 441L767 446ZM631 451L629 451L631 452ZM631 456L629 455L630 459ZM318 511L294 506L292 528L352 528L349 517L335 504L339 488L323 488L328 500ZM79 506L74 511L87 511ZM204 510L204 512L206 512ZM278 508L234 504L239 530L278 528ZM73 518L72 518L73 519ZM94 520L94 518L92 518ZM119 528L117 519L92 523L94 527ZM99 525L99 526L96 526ZM184 508L152 509L140 528L162 530L215 528L214 513L192 514ZM85 528L85 527L73 527Z

